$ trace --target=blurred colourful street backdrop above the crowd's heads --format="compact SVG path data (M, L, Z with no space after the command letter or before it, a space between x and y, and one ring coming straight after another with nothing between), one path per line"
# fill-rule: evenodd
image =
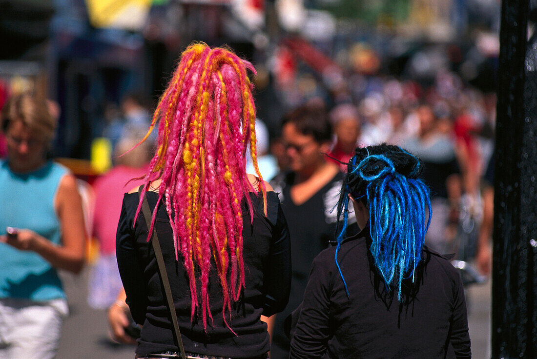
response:
M255 63L273 136L288 108L358 104L353 87L378 77L431 83L453 71L493 89L497 18L497 0L0 0L0 77L56 100L55 154L87 159L107 105L133 91L154 103L193 40Z

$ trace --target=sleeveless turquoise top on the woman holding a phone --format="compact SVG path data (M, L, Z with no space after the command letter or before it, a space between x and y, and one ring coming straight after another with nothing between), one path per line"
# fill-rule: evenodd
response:
M66 167L52 161L29 173L14 173L0 162L0 232L30 229L60 245L54 198ZM0 243L0 298L49 301L65 298L56 269L39 254Z

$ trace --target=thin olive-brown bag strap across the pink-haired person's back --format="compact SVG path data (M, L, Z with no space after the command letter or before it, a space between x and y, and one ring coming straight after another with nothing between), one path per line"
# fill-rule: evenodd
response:
M142 186L140 186L138 193L140 193ZM147 230L151 228L151 209L149 208L149 203L147 203L147 197L143 197L142 202L142 211L143 216L146 218ZM158 264L158 272L161 274L162 285L164 287L164 293L166 295L166 301L168 301L168 309L171 314L171 321L173 323L173 334L175 334L175 339L179 347L181 357L186 358L185 348L183 347L183 339L181 338L181 332L179 331L179 323L177 323L177 313L175 311L175 305L173 304L173 298L171 295L170 282L168 280L168 273L166 272L166 267L164 266L164 258L162 257L161 245L158 242L157 232L153 229L153 237L151 237L151 243L153 244L153 250L155 251L155 257Z

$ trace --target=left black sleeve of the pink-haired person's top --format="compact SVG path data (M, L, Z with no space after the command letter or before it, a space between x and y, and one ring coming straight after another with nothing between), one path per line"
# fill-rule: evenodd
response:
M124 197L119 217L118 231L116 234L115 251L118 258L119 274L127 294L127 304L133 319L138 324L143 324L146 318L147 286L144 280L143 270L136 253L134 234L134 213L126 206ZM143 219L140 213L139 221Z

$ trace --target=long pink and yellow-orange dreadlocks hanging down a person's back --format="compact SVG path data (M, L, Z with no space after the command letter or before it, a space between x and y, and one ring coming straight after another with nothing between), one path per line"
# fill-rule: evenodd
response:
M207 316L213 320L207 292L211 257L222 288L227 327L226 312L230 313L244 287L241 201L248 203L253 220L248 192L257 193L245 172L248 145L266 214L266 189L257 166L256 109L246 69L256 73L251 63L230 50L204 43L188 46L141 141L159 121L158 150L145 177L136 217L150 182L160 178L158 202L164 198L176 260L183 261L190 282L191 320L201 310L205 329Z

